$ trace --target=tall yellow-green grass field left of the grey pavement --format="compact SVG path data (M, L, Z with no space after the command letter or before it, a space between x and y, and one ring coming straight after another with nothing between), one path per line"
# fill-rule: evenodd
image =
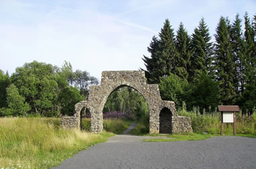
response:
M52 168L110 136L63 130L58 118L0 118L0 168Z

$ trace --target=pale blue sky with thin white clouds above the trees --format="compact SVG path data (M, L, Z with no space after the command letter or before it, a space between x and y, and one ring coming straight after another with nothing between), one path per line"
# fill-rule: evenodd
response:
M214 35L221 15L232 21L255 9L255 0L0 0L0 69L66 60L97 78L104 70L137 70L165 19L191 34L204 17Z

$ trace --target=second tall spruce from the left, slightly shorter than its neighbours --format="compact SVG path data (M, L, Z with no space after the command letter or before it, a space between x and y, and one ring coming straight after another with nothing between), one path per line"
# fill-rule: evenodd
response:
M189 59L191 57L191 39L187 31L183 27L183 23L179 24L176 36L177 57L175 59L174 74L183 79L188 77Z

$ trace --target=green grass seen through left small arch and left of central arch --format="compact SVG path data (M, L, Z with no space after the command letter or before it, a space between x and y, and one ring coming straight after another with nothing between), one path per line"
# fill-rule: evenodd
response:
M105 132L111 132L114 134L122 134L124 130L126 130L130 126L130 124L132 124L132 122L132 120L126 120L121 118L104 119L103 130L105 130ZM91 130L89 118L83 118L82 128L86 131Z

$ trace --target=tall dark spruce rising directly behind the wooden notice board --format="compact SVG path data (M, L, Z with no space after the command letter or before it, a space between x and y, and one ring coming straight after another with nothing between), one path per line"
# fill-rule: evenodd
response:
M235 97L233 86L232 47L230 42L230 30L227 19L220 17L216 28L216 47L215 47L215 68L216 79L219 83L220 95L223 104L232 104Z

